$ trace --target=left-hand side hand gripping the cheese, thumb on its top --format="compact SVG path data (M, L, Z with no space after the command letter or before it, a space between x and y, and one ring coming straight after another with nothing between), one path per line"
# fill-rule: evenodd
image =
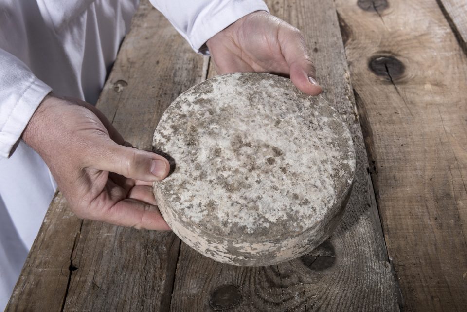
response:
M169 162L132 148L92 105L48 95L22 139L42 156L78 217L170 230L151 186L167 176Z

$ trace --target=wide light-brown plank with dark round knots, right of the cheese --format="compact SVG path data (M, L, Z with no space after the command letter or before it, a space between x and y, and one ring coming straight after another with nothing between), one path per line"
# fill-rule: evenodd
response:
M467 311L466 55L434 0L336 5L404 311Z

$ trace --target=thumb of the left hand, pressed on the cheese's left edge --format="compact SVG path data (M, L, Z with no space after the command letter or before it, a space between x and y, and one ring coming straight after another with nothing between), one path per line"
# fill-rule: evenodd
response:
M106 141L106 144L95 146L97 150L90 153L93 159L89 167L142 181L159 181L168 175L170 164L164 157L119 145L110 138Z

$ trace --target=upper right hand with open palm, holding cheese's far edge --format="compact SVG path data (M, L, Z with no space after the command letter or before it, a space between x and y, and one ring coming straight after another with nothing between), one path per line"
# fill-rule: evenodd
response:
M307 94L322 92L305 38L297 28L265 11L238 19L206 44L219 74L279 73L289 75L292 83Z

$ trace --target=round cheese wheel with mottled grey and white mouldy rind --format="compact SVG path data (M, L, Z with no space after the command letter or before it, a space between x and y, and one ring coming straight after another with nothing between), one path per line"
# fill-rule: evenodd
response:
M198 252L235 265L275 264L322 243L355 173L338 112L266 73L217 76L183 92L153 146L177 164L154 184L167 223Z

